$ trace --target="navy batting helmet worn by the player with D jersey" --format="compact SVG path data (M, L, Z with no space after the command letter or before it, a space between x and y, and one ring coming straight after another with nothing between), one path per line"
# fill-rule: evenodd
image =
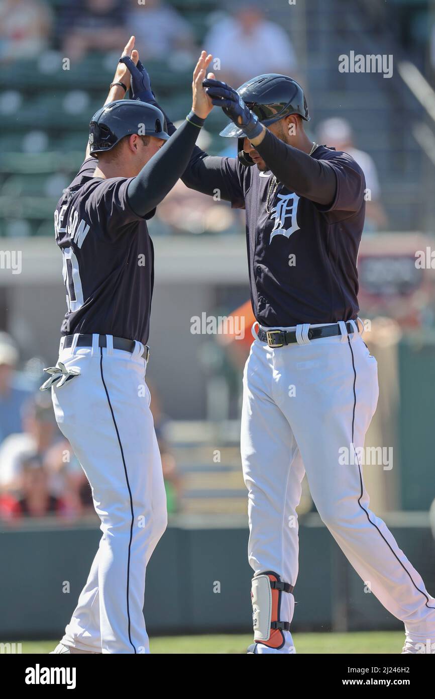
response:
M279 73L258 75L240 85L237 93L265 127L289 114L299 114L306 122L310 120L304 90L299 82L288 78L288 75L279 75ZM245 136L242 129L231 122L219 136L238 138L239 160L243 165L253 165L253 160L243 151Z

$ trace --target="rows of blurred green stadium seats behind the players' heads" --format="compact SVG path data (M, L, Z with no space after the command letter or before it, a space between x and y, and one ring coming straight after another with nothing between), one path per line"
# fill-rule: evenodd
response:
M63 3L51 0L54 13ZM201 45L214 17L221 13L212 0L172 0L193 27ZM284 3L286 4L286 3ZM345 10L345 11L344 11ZM301 16L301 15L299 15ZM383 80L380 75L340 75L337 58L349 47L363 53L371 45L376 31L379 45L401 56L400 48L388 31L374 27L369 11L362 4L352 6L344 0L324 3L313 0L304 10L300 34L295 20L290 21L288 8L281 7L274 20L297 38L300 77L307 87L314 135L316 125L330 116L342 116L351 122L357 146L375 159L381 175L383 202L392 229L424 229L433 215L434 205L421 206L422 186L429 192L429 161L418 143L406 130L406 120L421 116L399 78ZM298 25L299 26L299 25ZM117 55L88 55L77 65L64 70L59 48L46 52L29 70L28 62L0 66L0 234L8 229L4 218L11 214L8 192L22 192L23 201L15 217L26 212L31 233L45 231L44 220L52 220L57 197L47 192L48 173L71 178L80 165L87 140L87 126L107 94L117 62ZM182 119L191 106L191 70L175 71L161 62L147 64L153 87L172 120ZM307 68L305 69L305 66ZM352 79L350 79L352 77ZM406 109L404 102L406 101ZM217 110L207 120L212 134L209 152L219 153L228 144L219 139L225 118ZM29 169L27 169L29 165ZM24 178L31 172L34 181ZM22 179L20 188L17 178ZM9 182L9 180L11 180ZM31 191L30 191L31 190ZM425 196L426 201L432 195ZM23 214L24 215L24 214Z

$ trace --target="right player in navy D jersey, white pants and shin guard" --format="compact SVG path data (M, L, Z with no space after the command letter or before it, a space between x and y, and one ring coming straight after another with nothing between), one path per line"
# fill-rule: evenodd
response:
M202 52L202 67L210 57ZM140 86L146 71L131 68ZM404 621L404 653L430 652L435 599L369 510L357 459L378 400L376 359L357 317L357 252L364 224L364 175L345 152L313 143L300 85L259 75L237 91L204 82L239 139L237 159L198 147L182 177L188 187L246 209L251 302L256 317L244 368L241 450L249 491L249 563L254 643L250 654L293 654L290 625L297 579L296 507L307 473L320 517L364 584ZM168 133L174 132L168 121ZM434 652L434 645L432 645Z

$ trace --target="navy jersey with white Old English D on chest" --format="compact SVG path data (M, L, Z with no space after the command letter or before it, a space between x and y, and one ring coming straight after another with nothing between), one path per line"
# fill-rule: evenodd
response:
M285 155L286 145L269 137ZM265 139L266 140L266 139ZM258 147L260 151L260 147ZM306 158L306 156L304 156ZM246 208L246 244L253 312L263 326L355 319L357 254L364 226L364 174L347 153L318 146L318 179L335 175L334 201L322 206L233 158L193 153L183 180L189 187ZM295 175L297 180L297 174ZM301 175L301 184L302 184ZM305 182L305 187L309 184ZM267 206L267 202L269 206Z

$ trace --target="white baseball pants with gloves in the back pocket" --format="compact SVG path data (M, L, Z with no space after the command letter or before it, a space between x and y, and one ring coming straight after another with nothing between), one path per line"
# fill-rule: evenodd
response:
M52 387L57 423L91 484L101 537L62 643L104 654L149 653L145 569L167 524L144 347L61 349L80 375ZM61 344L62 347L62 344ZM80 552L76 552L80 556Z

